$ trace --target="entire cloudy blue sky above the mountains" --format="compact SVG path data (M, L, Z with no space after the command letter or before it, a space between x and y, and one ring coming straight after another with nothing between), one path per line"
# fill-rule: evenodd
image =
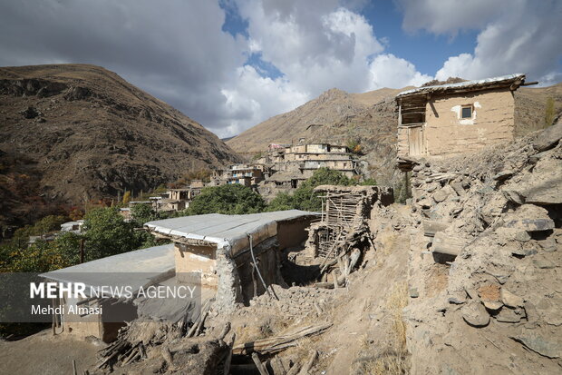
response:
M101 65L221 137L333 87L562 81L559 0L6 0L0 66Z

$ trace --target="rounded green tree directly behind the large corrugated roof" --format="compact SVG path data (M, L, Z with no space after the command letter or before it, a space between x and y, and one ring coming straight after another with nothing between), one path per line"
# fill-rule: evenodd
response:
M266 202L257 192L237 183L206 187L189 203L187 215L204 213L244 214L262 212Z

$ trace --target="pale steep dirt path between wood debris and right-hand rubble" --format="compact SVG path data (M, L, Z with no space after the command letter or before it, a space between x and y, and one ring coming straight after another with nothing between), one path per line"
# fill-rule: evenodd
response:
M325 360L330 363L323 369L326 375L370 373L365 372L369 366L402 340L402 332L394 324L397 311L392 308L392 298L406 293L409 236L396 232L383 236L384 247L375 256L377 264L372 260L356 272L349 288L334 301L334 327L319 342L326 353L333 353L331 361Z

